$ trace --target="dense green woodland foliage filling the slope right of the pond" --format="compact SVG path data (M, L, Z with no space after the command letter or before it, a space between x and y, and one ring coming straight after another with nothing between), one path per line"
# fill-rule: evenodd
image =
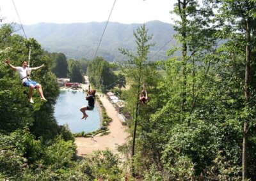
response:
M250 178L254 179L256 85L250 80L253 99L244 106L245 36L237 29L222 31L220 27L208 24L213 20L213 8L218 7L216 2L199 6L197 1L189 1L185 9L179 9L185 1L180 2L176 4L175 12L182 21L177 22L175 28L184 54L157 62L166 75L155 74L154 66L142 74L150 88L147 89L147 105L138 105L136 173L148 180L239 180L242 175L243 121L248 120L251 126L248 129L248 168ZM232 7L237 8L235 1L232 2ZM234 27L242 28L238 25L237 20ZM252 45L256 42L255 30L253 32ZM223 36L225 34L227 36ZM178 49L170 50L170 53ZM130 62L134 60L132 54L125 54L129 55ZM255 59L255 48L252 48L251 56ZM251 68L250 78L254 80L255 62ZM132 75L134 82L140 80L135 71L126 75ZM126 109L132 115L136 115L138 98L134 95L137 86L131 85L131 89L122 94L127 101ZM129 126L132 134L134 122Z

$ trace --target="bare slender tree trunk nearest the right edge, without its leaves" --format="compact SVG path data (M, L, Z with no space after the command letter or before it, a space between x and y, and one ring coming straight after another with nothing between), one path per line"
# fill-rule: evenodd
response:
M250 106L250 63L251 63L251 27L250 18L246 21L246 62L245 62L245 78L244 78L244 96L246 99L246 106ZM247 143L248 143L248 129L249 121L244 120L243 129L243 180L247 179L248 165L247 165Z

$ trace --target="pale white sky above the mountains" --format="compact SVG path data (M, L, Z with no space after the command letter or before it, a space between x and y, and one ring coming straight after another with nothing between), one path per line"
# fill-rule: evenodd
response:
M0 0L0 17L4 22L24 25L39 22L69 24L105 22L115 0ZM173 24L170 11L174 0L116 0L110 22L123 24L160 20Z

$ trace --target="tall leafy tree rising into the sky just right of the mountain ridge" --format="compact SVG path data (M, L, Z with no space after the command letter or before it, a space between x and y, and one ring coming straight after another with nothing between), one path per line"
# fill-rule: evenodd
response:
M198 55L201 55L204 50L212 49L214 40L211 34L214 33L209 28L210 17L212 10L210 6L199 6L197 0L177 0L172 13L178 15L179 20L175 21L174 29L177 31L176 38L181 43L182 51L182 102L181 109L186 112L188 110L188 73L193 73L193 102L195 101L195 60L198 60ZM197 55L197 57L196 57ZM191 68L192 66L192 68ZM193 105L193 103L191 104ZM193 107L193 106L192 106Z

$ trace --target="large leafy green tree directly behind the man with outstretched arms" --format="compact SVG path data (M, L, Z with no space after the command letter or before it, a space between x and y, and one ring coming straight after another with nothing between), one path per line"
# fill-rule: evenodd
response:
M36 103L28 105L27 96L23 94L26 88L20 85L17 73L7 69L4 64L0 64L0 132L12 132L15 129L29 126L30 131L36 136L42 136L45 139L52 138L58 133L53 107L59 94L56 76L51 72L53 59L41 49L36 40L33 38L26 40L17 34L12 35L12 31L10 25L0 28L0 38L3 38L0 49L6 50L4 54L1 53L1 61L10 59L14 66L20 66L22 61L28 60L28 47L31 47L31 67L45 64L44 69L32 71L31 76L44 87L44 95L48 101L41 103L40 98L35 96L35 100L38 99Z

